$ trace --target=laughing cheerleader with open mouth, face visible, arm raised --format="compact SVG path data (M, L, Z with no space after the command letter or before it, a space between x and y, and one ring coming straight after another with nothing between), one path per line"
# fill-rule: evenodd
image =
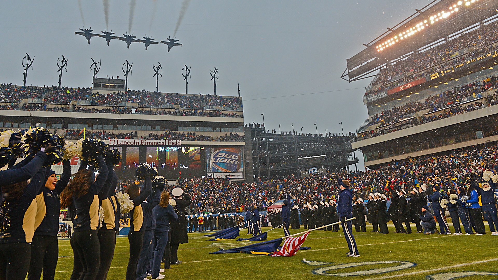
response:
M43 270L43 280L53 280L59 257L59 214L61 203L59 194L66 188L71 178L71 164L63 161L63 172L57 180L55 172L47 167L45 186L36 196L36 217L33 243L31 244L31 262L28 280L39 280Z

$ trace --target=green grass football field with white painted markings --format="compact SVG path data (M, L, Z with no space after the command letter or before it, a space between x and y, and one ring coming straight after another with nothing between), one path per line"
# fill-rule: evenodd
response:
M178 258L183 263L167 270L165 279L498 279L498 236L489 231L484 236L454 236L382 235L371 230L368 225L367 232L354 232L361 255L358 258L346 257L349 250L342 232L314 231L303 245L311 250L277 258L208 254L256 242L207 241L209 238L202 236L206 233L192 233L189 243L180 245ZM303 229L291 233L300 231ZM392 224L389 231L394 231ZM246 233L241 231L241 237L248 237ZM281 229L272 230L268 240L282 235ZM56 279L67 280L73 264L69 240L59 240L59 251ZM118 238L108 279L124 279L127 261L128 239Z

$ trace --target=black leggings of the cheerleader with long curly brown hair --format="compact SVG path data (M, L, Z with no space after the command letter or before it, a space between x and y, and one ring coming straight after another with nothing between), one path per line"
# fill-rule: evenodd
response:
M97 230L77 231L73 234L74 255L78 255L81 263L81 276L79 280L95 280L100 266L100 244ZM76 263L76 260L75 260ZM73 267L73 274L78 268ZM71 276L72 277L72 276Z

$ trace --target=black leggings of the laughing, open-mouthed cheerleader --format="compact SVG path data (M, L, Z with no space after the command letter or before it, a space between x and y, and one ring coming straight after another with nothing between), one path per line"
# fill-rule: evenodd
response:
M57 242L57 236L35 235L31 243L28 280L40 280L42 270L43 280L53 280L58 258L59 243Z

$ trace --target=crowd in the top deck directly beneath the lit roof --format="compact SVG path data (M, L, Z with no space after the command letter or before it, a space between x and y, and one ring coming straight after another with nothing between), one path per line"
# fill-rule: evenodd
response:
M439 69L465 61L467 58L484 54L491 50L492 43L498 40L498 22L482 25L478 29L464 33L423 52L410 55L380 70L374 81L379 85L366 93L374 95L389 88L427 76ZM465 50L469 52L465 52ZM459 53L462 52L463 54Z

